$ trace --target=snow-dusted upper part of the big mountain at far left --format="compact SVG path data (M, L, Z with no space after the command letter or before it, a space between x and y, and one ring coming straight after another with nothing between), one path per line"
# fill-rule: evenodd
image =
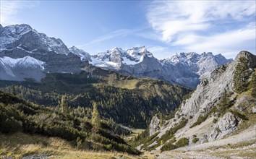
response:
M59 38L50 38L25 24L9 25L1 28L1 50L15 47L20 47L27 52L38 49L66 55L69 53L69 49Z

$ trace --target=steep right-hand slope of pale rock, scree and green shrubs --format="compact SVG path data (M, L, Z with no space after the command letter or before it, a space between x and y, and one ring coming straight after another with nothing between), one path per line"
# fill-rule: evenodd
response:
M200 147L202 143L209 142L210 145L227 135L253 129L256 98L250 93L252 88L248 87L242 93L237 93L234 88L234 72L243 58L246 59L244 64L249 66L243 72L252 74L256 68L256 56L241 51L233 62L219 67L209 79L202 80L190 98L182 102L173 119L160 124L158 116L154 116L148 132L153 137L150 142L153 144L144 148L164 151L187 145Z

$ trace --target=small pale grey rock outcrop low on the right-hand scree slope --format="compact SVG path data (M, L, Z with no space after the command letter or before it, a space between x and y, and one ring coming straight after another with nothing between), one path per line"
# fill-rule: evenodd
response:
M213 127L213 131L209 135L209 141L223 138L226 134L234 132L236 126L239 124L239 120L228 112L223 115L223 117L217 122Z

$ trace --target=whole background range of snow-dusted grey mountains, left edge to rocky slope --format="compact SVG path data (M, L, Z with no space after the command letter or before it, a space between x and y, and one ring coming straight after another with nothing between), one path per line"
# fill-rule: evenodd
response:
M145 46L112 48L90 55L75 46L38 33L29 25L0 25L0 80L40 81L47 73L76 73L89 64L135 77L150 77L169 83L196 87L200 79L232 59L213 53L176 53L156 59Z

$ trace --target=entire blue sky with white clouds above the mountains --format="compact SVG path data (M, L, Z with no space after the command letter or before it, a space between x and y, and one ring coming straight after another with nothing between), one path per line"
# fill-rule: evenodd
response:
M234 58L255 53L255 1L2 1L1 25L28 24L95 54L146 46L158 59L176 52Z

